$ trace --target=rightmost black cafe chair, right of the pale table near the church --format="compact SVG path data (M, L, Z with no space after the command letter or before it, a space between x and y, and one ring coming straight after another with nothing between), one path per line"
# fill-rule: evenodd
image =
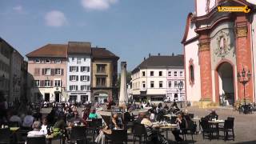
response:
M220 128L224 132L224 140L228 140L229 132L232 132L232 140L234 141L234 119L228 118L224 122L223 128Z

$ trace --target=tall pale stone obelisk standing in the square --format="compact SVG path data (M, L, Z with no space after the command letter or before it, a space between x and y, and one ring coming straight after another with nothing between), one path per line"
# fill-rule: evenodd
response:
M121 62L119 106L126 106L126 104L128 104L128 94L126 89L126 62Z

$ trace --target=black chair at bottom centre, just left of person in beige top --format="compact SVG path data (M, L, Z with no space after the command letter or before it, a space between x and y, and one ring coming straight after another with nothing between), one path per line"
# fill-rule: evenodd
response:
M138 141L137 141L138 138ZM144 139L144 140L143 140ZM142 124L134 124L134 143L139 142L140 144L146 143L147 133L146 128Z

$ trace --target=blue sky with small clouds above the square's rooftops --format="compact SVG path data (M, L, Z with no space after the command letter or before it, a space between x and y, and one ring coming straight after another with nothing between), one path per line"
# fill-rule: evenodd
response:
M1 0L0 36L22 55L47 43L91 42L133 70L148 54L182 54L192 0Z

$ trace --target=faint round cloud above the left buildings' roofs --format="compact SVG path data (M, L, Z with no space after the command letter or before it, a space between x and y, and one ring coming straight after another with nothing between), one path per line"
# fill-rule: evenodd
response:
M67 24L65 14L58 10L48 12L45 16L45 20L47 26L60 27Z

